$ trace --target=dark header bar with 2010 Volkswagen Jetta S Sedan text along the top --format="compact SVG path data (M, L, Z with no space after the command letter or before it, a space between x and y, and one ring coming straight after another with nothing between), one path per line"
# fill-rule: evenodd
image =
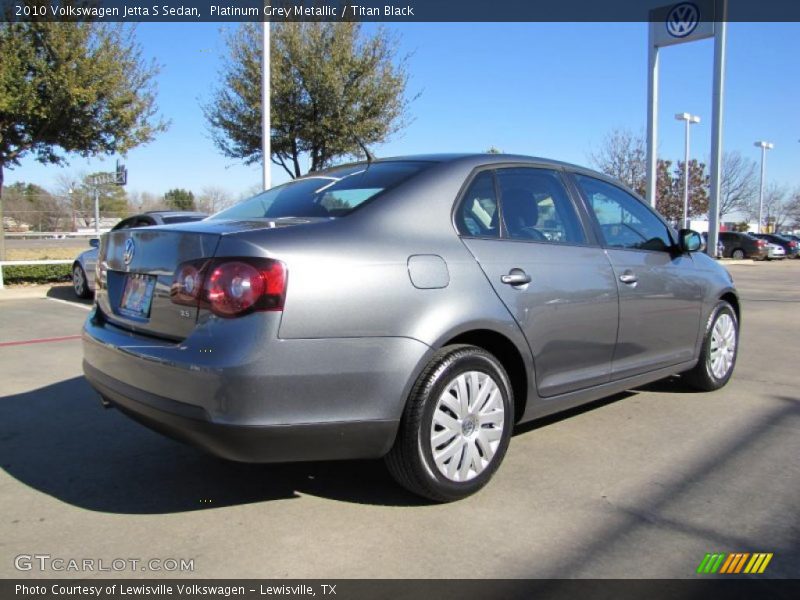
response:
M668 0L0 0L0 20L646 22L652 18L652 9L681 3ZM798 22L800 2L728 0L727 20Z

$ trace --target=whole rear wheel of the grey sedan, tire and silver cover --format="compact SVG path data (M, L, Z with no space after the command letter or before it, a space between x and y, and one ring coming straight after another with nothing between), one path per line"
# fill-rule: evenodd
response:
M500 362L481 348L448 346L414 384L389 472L409 491L437 502L474 494L505 456L513 393Z

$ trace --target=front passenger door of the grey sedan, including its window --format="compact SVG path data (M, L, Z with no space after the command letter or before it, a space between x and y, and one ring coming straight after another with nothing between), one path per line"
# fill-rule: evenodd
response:
M619 334L612 379L690 361L704 284L689 254L644 202L606 181L575 174L595 218L619 289Z

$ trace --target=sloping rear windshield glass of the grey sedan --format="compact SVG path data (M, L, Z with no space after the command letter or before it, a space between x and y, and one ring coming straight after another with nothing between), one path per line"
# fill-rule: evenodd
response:
M379 162L325 171L274 187L210 218L343 217L431 164L415 161Z

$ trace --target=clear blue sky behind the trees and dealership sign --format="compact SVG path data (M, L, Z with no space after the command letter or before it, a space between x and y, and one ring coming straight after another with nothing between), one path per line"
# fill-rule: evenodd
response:
M234 196L254 189L260 167L244 167L214 147L201 111L219 80L225 27L214 23L138 26L147 57L162 71L158 103L172 125L126 159L129 191L163 194L206 186ZM369 32L374 24L366 24ZM378 156L504 152L589 164L614 127L644 131L647 114L645 23L418 23L387 26L411 53L410 126L373 148ZM678 112L700 115L692 155L708 161L713 41L662 50L659 157L683 158ZM775 144L767 179L800 187L800 24L731 23L724 149L760 159L757 139ZM6 171L6 183L54 188L59 175L113 169L115 158L75 157L68 167L32 159ZM273 167L273 182L286 175Z

